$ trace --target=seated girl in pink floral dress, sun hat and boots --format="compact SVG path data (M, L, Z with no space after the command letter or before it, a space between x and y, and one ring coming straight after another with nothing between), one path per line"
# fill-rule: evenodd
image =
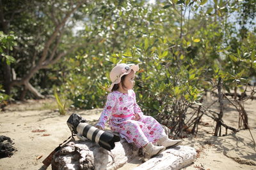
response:
M108 89L110 93L96 127L104 129L110 117L111 130L118 132L129 143L135 143L138 148L145 148L146 157L150 158L163 152L168 146L177 146L181 141L168 139L159 122L141 112L132 90L135 72L138 70L139 66L134 64L117 64L112 69L109 74L112 81Z

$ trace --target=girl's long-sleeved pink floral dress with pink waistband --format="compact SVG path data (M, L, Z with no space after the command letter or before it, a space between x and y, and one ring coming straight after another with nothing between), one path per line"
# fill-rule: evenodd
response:
M139 120L134 120L135 114L140 116ZM104 128L108 119L112 131L119 132L122 138L129 143L134 142L139 148L166 136L163 127L155 118L143 115L133 90L128 90L128 94L118 91L108 94L106 106L97 125Z

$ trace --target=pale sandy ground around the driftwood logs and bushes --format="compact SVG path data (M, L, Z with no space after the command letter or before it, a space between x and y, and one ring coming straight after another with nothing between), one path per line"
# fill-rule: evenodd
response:
M53 105L53 106L52 106ZM244 104L251 132L256 139L256 101ZM218 106L212 106L218 109ZM0 159L0 169L44 169L42 160L70 136L66 124L71 113L79 113L95 124L102 109L68 111L61 116L54 110L51 99L11 104L0 112L0 135L10 137L17 152L12 157ZM225 105L224 121L237 128L238 114L232 106ZM195 162L184 169L256 169L256 152L248 130L227 136L212 136L214 122L203 117L199 132L193 138L184 138L182 145L192 146L198 155ZM141 164L140 157L120 169L133 169ZM51 169L49 166L47 169Z

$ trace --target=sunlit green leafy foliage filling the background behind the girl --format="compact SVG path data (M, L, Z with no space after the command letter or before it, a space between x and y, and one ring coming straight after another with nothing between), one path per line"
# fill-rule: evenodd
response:
M42 53L54 18L60 20L63 11L69 9L67 1L35 2L35 11L22 13L11 27L20 49L13 57L21 59L11 66L19 75L40 60L33 56ZM237 93L237 89L248 92L244 85L256 74L255 2L157 2L85 3L63 31L58 52L73 49L77 42L83 46L74 47L76 53L68 52L61 62L38 71L31 83L45 92L51 92L52 85L59 86L60 94L65 94L75 108L102 108L111 68L120 60L140 63L134 90L143 112L167 125L175 136L183 136L184 127L193 125L195 130L207 112L202 104L205 92L216 94L218 87L223 95ZM82 29L75 33L72 28L77 23ZM54 51L54 46L49 51ZM196 117L186 122L189 109ZM211 117L223 123L218 115Z

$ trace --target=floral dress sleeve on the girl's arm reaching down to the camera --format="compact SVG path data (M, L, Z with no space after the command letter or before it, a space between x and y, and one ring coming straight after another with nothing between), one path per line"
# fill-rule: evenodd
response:
M99 121L96 125L101 126L102 129L105 128L105 124L106 124L109 116L111 115L115 104L116 104L116 97L112 93L109 93L108 97L107 97L106 106L104 107L104 110L102 111Z

